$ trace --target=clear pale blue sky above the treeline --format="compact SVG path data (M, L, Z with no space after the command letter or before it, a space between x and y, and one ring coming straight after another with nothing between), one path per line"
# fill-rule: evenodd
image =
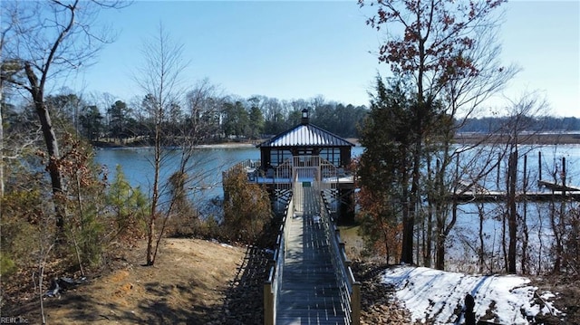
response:
M512 1L504 9L501 60L522 68L504 94L517 99L539 91L554 115L580 117L580 2ZM208 78L244 98L322 95L368 105L373 78L389 72L372 54L383 35L364 23L368 13L355 0L136 1L102 12L117 41L76 83L121 100L141 96L131 73L141 62L141 44L162 23L185 46L189 84Z

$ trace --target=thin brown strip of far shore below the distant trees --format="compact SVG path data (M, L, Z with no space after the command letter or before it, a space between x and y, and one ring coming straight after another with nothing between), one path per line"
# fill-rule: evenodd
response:
M477 143L505 143L509 139L508 135L487 135L484 133L468 132L458 133L455 137L457 144L477 144ZM519 136L519 144L522 145L580 145L580 131L572 133L537 133L525 134ZM253 139L253 140L233 140L227 142L218 142L211 144L201 144L197 148L256 148L267 139ZM347 138L346 140L354 143L357 147L361 144L358 139ZM134 142L107 142L97 141L92 145L96 148L143 148L150 147L142 140Z

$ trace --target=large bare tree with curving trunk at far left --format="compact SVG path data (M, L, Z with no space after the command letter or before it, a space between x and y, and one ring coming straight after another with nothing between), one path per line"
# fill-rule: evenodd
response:
M47 169L51 177L57 231L63 232L64 180L59 170L59 140L45 103L47 87L66 72L87 66L113 37L108 30L95 31L102 8L120 8L119 1L3 1L3 71L10 63L11 73L3 81L27 91L34 103L46 146ZM4 23L5 22L5 23Z

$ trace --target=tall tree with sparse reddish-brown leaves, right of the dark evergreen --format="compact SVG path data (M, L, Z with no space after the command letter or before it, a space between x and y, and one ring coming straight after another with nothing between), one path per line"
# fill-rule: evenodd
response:
M449 187L457 185L452 178L446 178L452 173L449 169L455 160L451 141L462 120L517 71L500 66L497 60L499 47L494 33L498 17L492 13L502 2L359 0L360 5L376 5L376 14L367 24L377 30L386 29L379 61L389 63L396 75L411 79L416 97L408 128L413 137L411 178L409 184L403 185L409 187L404 199L407 206L402 209L401 259L405 263L413 262L414 224L424 182L423 160L434 152L441 153L431 188L440 206L429 210L439 214L436 267L443 268L445 238L457 217L454 210L448 216L445 208ZM396 27L402 29L401 34L392 33Z

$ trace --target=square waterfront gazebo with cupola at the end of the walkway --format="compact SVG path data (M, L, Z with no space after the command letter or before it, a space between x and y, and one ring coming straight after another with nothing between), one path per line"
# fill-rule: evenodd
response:
M354 177L348 166L355 146L311 124L304 109L300 124L256 145L260 162L248 170L248 180L266 185L272 196L318 186L335 198L341 218L351 219Z

